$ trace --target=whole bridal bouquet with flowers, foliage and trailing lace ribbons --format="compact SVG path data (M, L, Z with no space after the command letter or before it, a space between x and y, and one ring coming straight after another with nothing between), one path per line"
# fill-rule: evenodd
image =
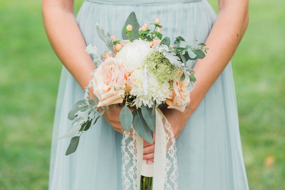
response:
M98 53L96 47L86 47L86 52L94 58L96 69L91 72L92 80L86 87L84 100L78 101L68 114L73 127L61 138L79 134L71 139L66 155L75 152L80 136L96 123L108 106L122 107L124 189L136 189L143 183L140 176L143 139L153 143L153 132L156 132L157 142L153 179L149 179L153 183L143 187L177 189L175 139L158 106L166 103L167 108L181 112L187 108L197 79L186 62L204 58L208 49L203 43L194 45L181 36L171 45L169 37L162 39L159 18L150 25L154 26L152 31L148 23L140 27L132 12L122 29L123 40L120 41L109 31L105 34L105 29L96 24L95 29L108 51ZM89 96L90 87L93 87L94 98Z

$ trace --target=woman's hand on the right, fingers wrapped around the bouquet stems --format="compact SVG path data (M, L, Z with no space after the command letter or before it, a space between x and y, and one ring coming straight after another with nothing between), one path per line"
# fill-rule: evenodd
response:
M179 134L182 132L188 118L193 113L193 110L185 110L180 112L176 109L168 109L167 107L162 107L160 109L162 113L167 118L168 122L172 126L174 133L174 138L177 139ZM153 144L150 144L144 140L143 143L143 159L146 159L146 163L150 164L154 162L154 142L155 136L153 137Z

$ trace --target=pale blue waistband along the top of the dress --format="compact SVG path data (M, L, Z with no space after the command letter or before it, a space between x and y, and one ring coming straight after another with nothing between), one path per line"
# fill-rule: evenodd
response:
M178 4L199 2L202 0L86 0L99 4L112 4L112 5L163 5L163 4Z

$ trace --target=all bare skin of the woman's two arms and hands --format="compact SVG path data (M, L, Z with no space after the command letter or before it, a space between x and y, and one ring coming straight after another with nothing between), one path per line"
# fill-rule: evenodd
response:
M162 112L172 126L175 139L229 63L248 25L248 0L218 0L218 3L219 13L205 42L209 48L207 56L199 59L194 66L195 76L199 80L191 92L191 102L188 106L192 110L186 109L181 113L175 109L162 108ZM50 43L66 69L84 89L91 80L90 72L95 68L90 56L85 52L86 44L73 10L73 0L42 0L43 23ZM122 133L120 111L121 108L111 105L103 117L115 131ZM153 162L154 144L144 142L143 151L143 159L147 159L147 163Z

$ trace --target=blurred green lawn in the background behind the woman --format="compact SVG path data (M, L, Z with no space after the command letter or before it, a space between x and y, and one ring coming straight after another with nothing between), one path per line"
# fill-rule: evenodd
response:
M217 1L209 2L217 11ZM285 188L284 7L251 0L249 26L232 58L251 190ZM0 190L47 189L62 64L39 0L0 1L0 66Z

